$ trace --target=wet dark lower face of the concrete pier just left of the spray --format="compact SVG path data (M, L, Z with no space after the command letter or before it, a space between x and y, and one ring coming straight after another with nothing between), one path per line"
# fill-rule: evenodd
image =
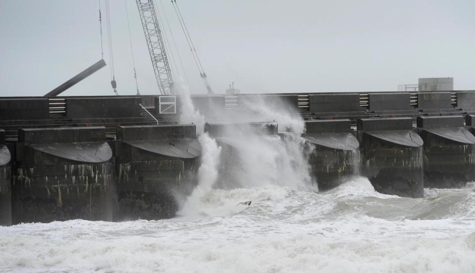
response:
M197 185L197 159L120 164L118 215L114 221L174 217Z

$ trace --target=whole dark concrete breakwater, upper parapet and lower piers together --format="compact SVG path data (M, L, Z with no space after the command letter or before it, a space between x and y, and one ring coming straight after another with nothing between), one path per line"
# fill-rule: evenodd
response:
M175 124L180 100L165 97L0 98L0 225L172 217L196 186L201 147L193 124ZM257 100L305 120L320 190L360 174L381 193L420 197L475 176L474 91L230 97L192 97L222 146L222 180L257 174L257 159L233 157L249 130L263 143L285 137L278 122L247 122ZM220 115L235 122L214 122Z

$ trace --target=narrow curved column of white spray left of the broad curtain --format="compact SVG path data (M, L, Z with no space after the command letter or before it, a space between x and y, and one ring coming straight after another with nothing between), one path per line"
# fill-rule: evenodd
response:
M203 133L198 137L201 144L201 165L198 169L198 185L193 190L183 208L177 213L180 216L192 217L204 212L200 211L213 185L218 179L218 163L221 154L221 147L218 147L216 141L207 133Z

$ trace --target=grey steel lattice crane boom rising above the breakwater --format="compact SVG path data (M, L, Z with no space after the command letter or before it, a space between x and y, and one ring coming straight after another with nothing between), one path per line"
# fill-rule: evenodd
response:
M153 71L162 95L174 94L173 78L152 0L136 0Z

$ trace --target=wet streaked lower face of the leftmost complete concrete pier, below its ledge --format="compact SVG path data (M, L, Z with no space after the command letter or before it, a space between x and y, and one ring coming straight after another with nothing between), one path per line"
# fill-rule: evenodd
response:
M111 167L112 163L104 163L17 169L12 184L12 224L112 221L116 198Z

